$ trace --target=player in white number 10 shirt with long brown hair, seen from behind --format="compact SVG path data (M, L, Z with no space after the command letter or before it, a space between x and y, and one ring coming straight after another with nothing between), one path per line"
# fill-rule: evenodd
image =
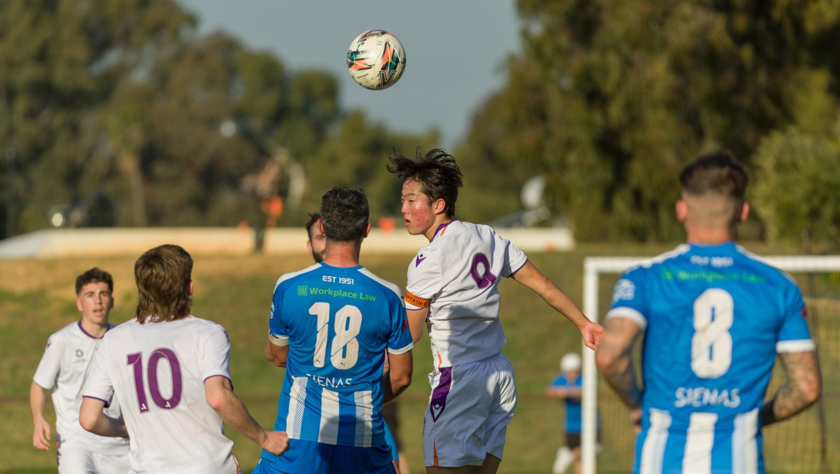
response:
M129 436L131 472L239 473L223 422L276 455L286 433L266 431L234 395L225 329L190 315L192 257L177 245L146 251L134 264L136 318L108 332L81 404L81 426ZM123 424L103 413L123 407Z

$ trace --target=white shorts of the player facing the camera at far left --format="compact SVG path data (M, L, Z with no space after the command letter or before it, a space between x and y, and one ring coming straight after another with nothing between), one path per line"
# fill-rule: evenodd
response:
M82 436L55 436L58 441L59 474L125 474L129 444L96 445Z

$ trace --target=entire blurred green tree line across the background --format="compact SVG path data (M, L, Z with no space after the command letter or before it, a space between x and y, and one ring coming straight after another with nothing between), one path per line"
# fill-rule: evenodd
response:
M453 154L459 217L522 208L528 178L578 240L677 240L676 174L727 149L753 238L840 237L840 0L517 0L522 50ZM396 148L438 145L339 107L171 0L0 3L0 237L59 224L298 225L326 189L396 217ZM65 208L60 208L60 206ZM76 212L76 214L74 214ZM74 220L75 219L75 220ZM53 225L56 223L53 222Z

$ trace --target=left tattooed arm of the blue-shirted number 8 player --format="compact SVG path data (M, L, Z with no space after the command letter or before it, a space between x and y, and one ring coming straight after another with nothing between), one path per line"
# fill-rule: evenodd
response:
M638 324L630 319L610 319L601 338L601 349L595 355L604 379L631 410L642 406L642 391L633 371L633 345L640 332Z

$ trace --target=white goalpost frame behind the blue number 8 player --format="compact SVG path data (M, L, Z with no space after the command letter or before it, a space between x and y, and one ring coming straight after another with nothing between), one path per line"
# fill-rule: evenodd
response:
M795 273L826 273L835 272L840 273L840 255L799 255L799 256L768 256L759 257L762 261L766 261L772 266L786 271L790 274ZM584 281L583 281L583 310L584 313L592 320L598 321L602 313L606 313L605 307L599 306L599 299L603 287L599 287L599 279L603 275L615 275L618 277L623 271L631 266L636 266L643 261L648 261L648 258L640 257L588 257L584 261ZM615 284L616 279L612 279L608 283L609 290L612 292L612 285ZM840 292L834 293L840 295ZM807 301L807 298L806 298ZM810 309L810 308L809 308ZM832 329L836 330L836 329ZM814 334L816 340L816 334ZM817 343L818 350L821 350L820 343ZM828 348L828 350L836 350L837 345ZM830 359L831 357L822 357L821 360ZM603 470L596 470L596 454L597 454L597 432L598 432L598 384L599 377L595 364L595 352L583 346L582 352L582 376L583 376L583 399L582 399L582 429L581 429L581 471L583 474L595 474L596 471L603 472ZM825 377L825 375L824 375ZM829 390L836 390L836 387L824 387L824 393ZM603 421L603 420L602 420ZM626 429L631 430L629 419L618 420L617 423L626 424ZM825 450L824 450L825 451ZM829 456L832 452L829 452ZM823 453L823 463L825 463L826 455ZM837 456L837 455L834 455ZM624 472L630 471L632 466L622 466Z

